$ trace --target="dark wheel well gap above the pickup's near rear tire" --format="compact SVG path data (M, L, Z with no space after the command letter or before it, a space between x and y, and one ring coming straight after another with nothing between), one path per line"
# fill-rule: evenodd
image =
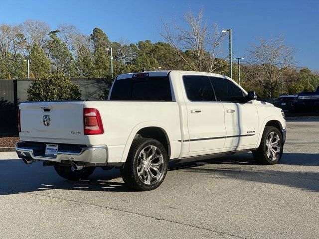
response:
M143 138L154 138L164 146L166 149L168 158L170 157L170 144L169 144L169 139L168 136L165 132L164 129L160 127L146 127L140 129L136 135L135 138L137 137L143 137Z

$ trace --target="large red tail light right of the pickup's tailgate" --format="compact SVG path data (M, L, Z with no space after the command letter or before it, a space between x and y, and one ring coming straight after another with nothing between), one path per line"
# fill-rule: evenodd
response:
M97 109L84 108L83 119L85 135L104 133L102 119Z

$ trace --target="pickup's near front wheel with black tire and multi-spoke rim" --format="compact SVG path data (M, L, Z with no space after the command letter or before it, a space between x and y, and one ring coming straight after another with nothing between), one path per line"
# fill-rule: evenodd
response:
M271 144L269 144L269 142L271 142ZM253 156L255 160L260 164L273 165L278 163L281 159L283 155L283 149L284 143L282 133L276 127L266 126L261 138L259 148L253 151Z

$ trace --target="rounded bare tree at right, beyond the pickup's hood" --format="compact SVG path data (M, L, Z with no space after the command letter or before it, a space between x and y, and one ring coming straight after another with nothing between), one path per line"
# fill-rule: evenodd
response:
M269 96L273 100L274 91L290 80L282 75L297 64L294 58L297 49L285 46L283 36L269 41L260 38L259 42L258 45L252 44L248 50L250 78L269 90Z

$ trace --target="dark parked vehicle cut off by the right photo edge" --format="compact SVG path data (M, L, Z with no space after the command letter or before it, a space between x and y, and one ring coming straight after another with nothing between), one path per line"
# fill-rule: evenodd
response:
M319 86L316 91L298 94L297 111L319 112Z

